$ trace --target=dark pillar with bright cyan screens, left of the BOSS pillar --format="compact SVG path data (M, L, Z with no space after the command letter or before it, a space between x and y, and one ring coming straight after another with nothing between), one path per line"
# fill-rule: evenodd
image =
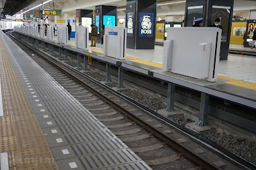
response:
M115 27L117 25L117 9L116 6L105 6L105 5L99 5L95 6L95 26L98 26L98 33L99 36L97 36L97 43L100 43L101 41L101 35L100 30L102 26L105 27Z

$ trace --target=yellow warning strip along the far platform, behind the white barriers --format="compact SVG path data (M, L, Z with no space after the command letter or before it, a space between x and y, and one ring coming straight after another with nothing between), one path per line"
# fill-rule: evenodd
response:
M70 45L76 45L75 43L69 43ZM101 54L103 54L103 50L102 49L98 49L98 48L95 48L95 47L90 47L91 50L95 51L95 52L99 52ZM149 65L149 66L154 66L154 67L157 67L157 68L163 68L163 65L160 64L160 63L155 63L155 62L152 62L152 61L146 61L146 60L143 60L143 59L139 59L139 58L134 58L132 56L129 56L127 55L126 58L129 58L131 59L131 61L134 61L135 63L141 63L143 65ZM253 83L253 82L246 82L246 81L239 81L237 79L230 79L228 77L221 77L221 76L218 76L218 79L222 79L222 80L225 80L227 82L227 84L233 84L235 86L239 86L239 87L242 87L242 88L248 88L248 89L255 89L256 90L256 84Z

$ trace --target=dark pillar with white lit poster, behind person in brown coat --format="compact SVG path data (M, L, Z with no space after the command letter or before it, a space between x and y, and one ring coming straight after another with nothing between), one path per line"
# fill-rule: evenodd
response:
M79 23L84 27L89 27L89 39L92 38L93 10L76 10L76 26Z

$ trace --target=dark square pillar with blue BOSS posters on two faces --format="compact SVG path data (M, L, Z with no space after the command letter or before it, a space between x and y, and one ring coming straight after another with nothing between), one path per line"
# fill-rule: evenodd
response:
M127 48L155 48L156 7L156 0L127 0Z

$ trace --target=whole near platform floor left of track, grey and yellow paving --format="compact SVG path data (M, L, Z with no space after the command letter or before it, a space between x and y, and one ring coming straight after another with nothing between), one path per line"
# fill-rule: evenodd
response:
M1 169L150 169L3 32L0 50Z

